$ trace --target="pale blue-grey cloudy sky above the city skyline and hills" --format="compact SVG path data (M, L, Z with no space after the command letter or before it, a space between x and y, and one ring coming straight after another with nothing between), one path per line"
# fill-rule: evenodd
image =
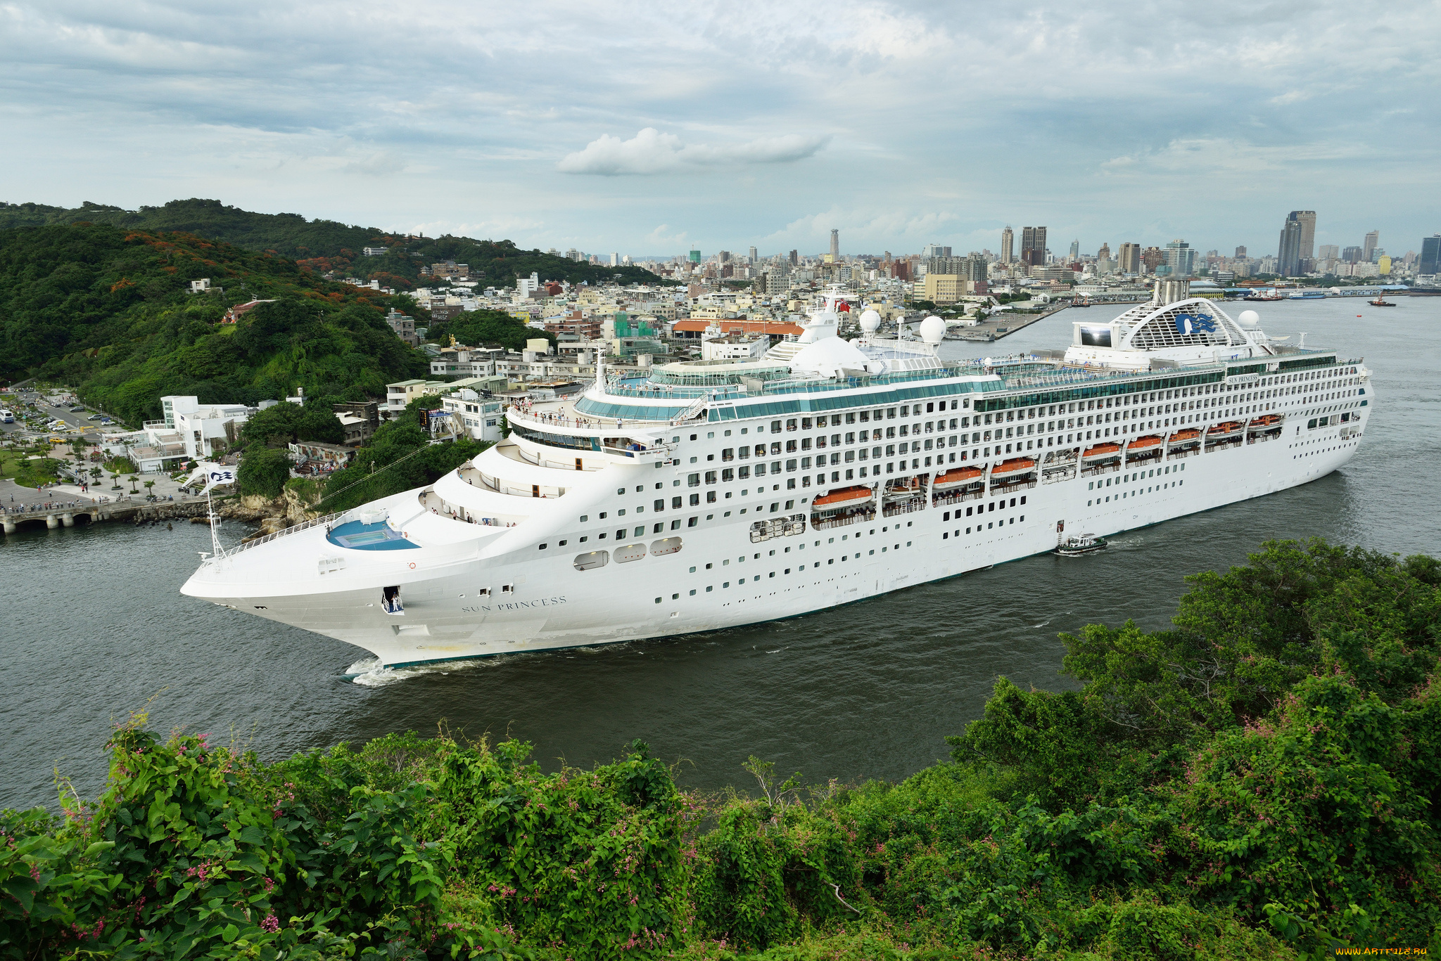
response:
M0 0L0 200L525 246L1441 231L1441 3Z

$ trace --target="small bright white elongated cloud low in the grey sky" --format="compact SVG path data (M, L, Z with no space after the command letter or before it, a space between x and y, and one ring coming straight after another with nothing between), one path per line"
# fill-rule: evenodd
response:
M684 144L674 134L663 134L654 127L647 127L630 140L602 134L588 143L585 150L566 154L556 164L556 170L615 177L677 173L696 167L794 163L814 156L826 140L826 137L785 134L729 144Z

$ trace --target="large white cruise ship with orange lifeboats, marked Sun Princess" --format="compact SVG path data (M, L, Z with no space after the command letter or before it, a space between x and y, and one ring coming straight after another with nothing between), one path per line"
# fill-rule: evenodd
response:
M804 333L741 360L598 372L409 490L202 560L184 594L380 666L713 631L855 604L1334 471L1359 359L1267 337L1183 281L1063 350L945 362ZM1069 533L1068 533L1069 532Z

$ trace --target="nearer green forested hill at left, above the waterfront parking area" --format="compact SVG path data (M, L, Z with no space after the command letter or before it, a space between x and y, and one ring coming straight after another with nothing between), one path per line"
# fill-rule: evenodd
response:
M209 277L223 292L190 294ZM223 323L226 310L274 300ZM102 223L0 231L0 380L40 375L138 424L160 396L255 403L383 396L425 356L385 323L408 297L320 280L275 254Z

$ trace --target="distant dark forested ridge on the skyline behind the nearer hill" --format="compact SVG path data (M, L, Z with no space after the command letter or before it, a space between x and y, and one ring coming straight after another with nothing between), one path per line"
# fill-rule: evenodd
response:
M386 287L422 285L421 268L438 261L468 264L473 280L510 287L516 277L589 284L620 280L625 284L669 284L640 267L578 264L540 251L523 251L510 241L477 241L465 236L409 238L378 228L336 220L307 220L298 213L254 213L219 200L171 200L164 206L125 210L91 203L52 207L39 203L0 202L0 229L53 223L111 223L141 231L182 231L209 241L225 241L251 251L269 251L298 261L317 274L337 278L379 280ZM365 256L367 246L385 246L380 256Z

